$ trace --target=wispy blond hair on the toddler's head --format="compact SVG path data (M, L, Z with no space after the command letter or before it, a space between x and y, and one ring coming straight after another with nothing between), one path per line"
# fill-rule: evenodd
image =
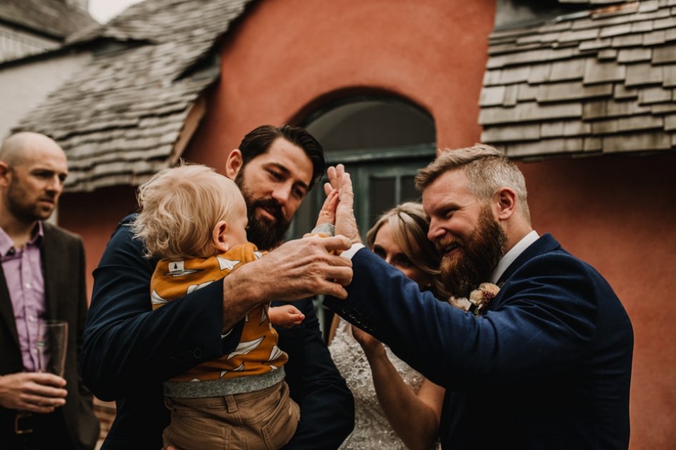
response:
M233 205L244 201L234 181L203 165L163 169L139 186L142 208L131 224L146 257L189 259L217 253L212 231L218 221L234 219Z

